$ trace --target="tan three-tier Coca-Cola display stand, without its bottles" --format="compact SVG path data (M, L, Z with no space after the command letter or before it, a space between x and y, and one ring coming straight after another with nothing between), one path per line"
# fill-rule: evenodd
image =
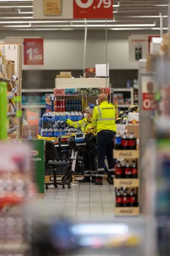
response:
M139 150L115 150L114 149L114 158L115 159L126 159L132 160L139 158ZM138 193L139 193L139 179L127 178L127 179L114 179L114 186L116 188L136 188L137 189L137 204L138 204ZM119 216L137 216L139 215L140 210L139 206L137 207L117 207L114 208L114 214Z

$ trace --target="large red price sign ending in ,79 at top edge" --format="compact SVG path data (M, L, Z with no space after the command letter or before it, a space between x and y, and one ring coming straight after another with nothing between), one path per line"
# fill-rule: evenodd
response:
M113 18L112 0L73 0L74 19Z

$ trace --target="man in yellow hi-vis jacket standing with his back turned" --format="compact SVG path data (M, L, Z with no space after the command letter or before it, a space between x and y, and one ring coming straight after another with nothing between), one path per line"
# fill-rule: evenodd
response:
M113 104L107 102L107 95L101 93L96 100L93 111L93 126L97 131L98 174L95 185L103 185L105 156L108 162L108 176L113 180L115 161L113 159L113 138L116 134L115 114Z

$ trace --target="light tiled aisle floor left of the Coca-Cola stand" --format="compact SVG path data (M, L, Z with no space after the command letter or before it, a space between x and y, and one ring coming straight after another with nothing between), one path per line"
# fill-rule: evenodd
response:
M53 201L49 215L54 213L81 218L83 216L113 216L114 187L104 182L103 186L75 183L68 189L50 186L44 201Z

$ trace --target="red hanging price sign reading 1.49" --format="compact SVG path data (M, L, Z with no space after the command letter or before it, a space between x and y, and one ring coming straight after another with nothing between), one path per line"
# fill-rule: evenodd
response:
M42 38L24 39L24 65L43 65L44 51Z

